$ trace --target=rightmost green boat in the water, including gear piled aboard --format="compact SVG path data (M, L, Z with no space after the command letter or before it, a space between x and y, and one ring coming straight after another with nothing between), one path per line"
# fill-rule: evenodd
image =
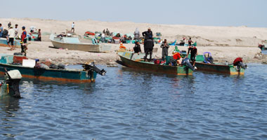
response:
M183 55L183 57L185 56L186 55ZM190 58L190 55L188 55L188 58ZM233 64L226 65L220 63L204 63L204 55L196 56L195 66L197 66L197 71L211 71L215 73L226 73L230 75L244 75L245 73L245 69L237 69L237 67L233 66Z

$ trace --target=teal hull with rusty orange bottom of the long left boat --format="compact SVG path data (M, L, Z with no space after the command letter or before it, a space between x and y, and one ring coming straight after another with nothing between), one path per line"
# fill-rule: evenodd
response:
M88 73L82 70L67 70L67 69L34 69L26 66L1 64L0 73L4 74L6 68L8 71L18 69L21 75L25 78L38 78L41 80L60 80L67 82L91 83L96 80L96 72Z

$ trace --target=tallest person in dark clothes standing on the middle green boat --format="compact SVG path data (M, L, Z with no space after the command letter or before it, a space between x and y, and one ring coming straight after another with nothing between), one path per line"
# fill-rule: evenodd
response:
M142 35L145 37L145 41L144 41L145 57L144 57L144 60L146 61L148 54L149 54L150 55L150 61L151 61L154 42L153 42L153 34L152 34L150 27L148 28L148 31L144 31L142 33Z

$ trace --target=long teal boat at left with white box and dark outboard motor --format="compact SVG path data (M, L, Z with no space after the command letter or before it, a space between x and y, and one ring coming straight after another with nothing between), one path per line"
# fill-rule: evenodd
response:
M18 65L18 59L22 61L22 65ZM14 60L16 63L13 63ZM5 73L4 68L8 69L8 71L18 69L25 78L90 83L95 82L97 73L105 75L106 72L104 69L100 71L100 69L98 69L93 63L83 64L84 69L37 69L34 68L34 64L32 63L34 63L32 60L29 62L22 55L2 55L0 59L0 73Z

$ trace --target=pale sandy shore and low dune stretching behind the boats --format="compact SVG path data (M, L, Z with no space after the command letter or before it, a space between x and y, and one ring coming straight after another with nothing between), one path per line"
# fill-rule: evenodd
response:
M29 30L30 26L41 29L42 33L48 34L51 32L63 32L70 29L72 21L59 20L41 20L32 18L0 18L2 25L7 27L9 21L12 25L18 24L20 29L22 26ZM161 32L161 38L167 38L168 41L175 39L180 41L182 37L192 37L193 41L197 41L198 54L209 51L216 62L233 62L236 57L243 57L245 62L267 62L266 55L260 55L261 50L257 48L258 43L262 43L267 39L266 28L251 28L251 27L204 27L193 25L152 25L148 23L133 23L133 22L98 22L93 20L82 20L75 22L75 32L81 36L85 31L102 31L109 29L110 31L119 31L122 34L133 33L138 27L139 31L145 31L151 27L152 31ZM19 32L21 34L21 31ZM82 52L78 50L59 50L51 48L52 43L48 39L48 35L42 36L42 42L31 41L28 45L27 57L32 59L52 59L54 62L62 62L64 64L77 64L91 60L95 60L98 64L107 64L115 62L118 59L117 53L114 50L119 49L118 44L109 44L112 46L112 52L96 53ZM83 41L85 41L83 39ZM124 44L126 48L133 48L133 44ZM143 50L143 45L141 45ZM159 48L159 45L155 45ZM186 47L178 46L179 50L187 50ZM169 49L169 55L174 46ZM161 57L161 48L155 57ZM1 47L0 53L13 55L13 52L20 52L20 48L16 50L8 50Z

